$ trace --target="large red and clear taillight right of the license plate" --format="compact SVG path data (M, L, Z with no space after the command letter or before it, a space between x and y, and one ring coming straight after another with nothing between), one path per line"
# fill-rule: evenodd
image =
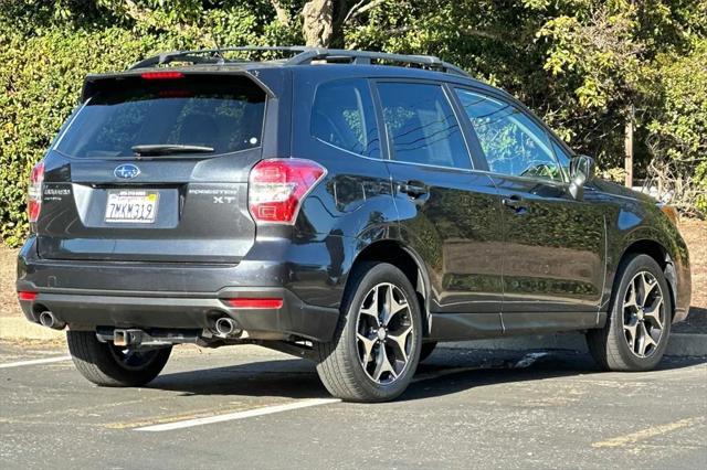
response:
M294 224L302 202L325 174L326 169L310 160L262 160L251 170L251 215L256 223Z

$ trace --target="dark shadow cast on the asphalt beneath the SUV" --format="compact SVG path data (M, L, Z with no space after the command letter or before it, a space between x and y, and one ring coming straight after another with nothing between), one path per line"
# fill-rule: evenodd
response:
M531 363L526 361L528 357ZM707 357L664 357L656 370L677 370L703 363L707 363ZM604 374L588 354L573 351L442 349L420 364L413 383L398 400L439 397L503 383ZM314 364L300 359L163 374L149 387L181 392L182 396L329 397Z

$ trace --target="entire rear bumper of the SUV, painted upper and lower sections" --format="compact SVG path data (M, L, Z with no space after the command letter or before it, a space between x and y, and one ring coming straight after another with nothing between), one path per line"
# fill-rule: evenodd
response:
M274 254L275 256L277 253ZM239 265L61 261L36 256L30 238L20 252L18 291L38 292L20 301L28 320L49 310L74 329L211 329L228 316L252 339L305 338L329 341L339 318L335 289L308 279L315 295L305 301L288 288L292 266L276 261ZM338 297L338 296L337 296ZM235 298L283 299L279 309L236 309ZM324 299L323 299L324 298ZM312 299L325 300L324 306Z

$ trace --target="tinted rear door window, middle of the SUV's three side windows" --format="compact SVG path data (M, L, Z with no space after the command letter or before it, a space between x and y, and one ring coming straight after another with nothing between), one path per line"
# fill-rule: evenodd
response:
M458 122L442 87L378 85L394 160L471 169Z

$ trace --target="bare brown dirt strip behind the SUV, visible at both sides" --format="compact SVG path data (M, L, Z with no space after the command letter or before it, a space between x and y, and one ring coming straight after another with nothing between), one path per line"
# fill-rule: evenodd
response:
M686 220L680 222L680 233L689 247L693 267L693 301L685 324L676 331L699 329L707 332L707 222ZM17 249L0 245L0 316L20 316L14 292Z

